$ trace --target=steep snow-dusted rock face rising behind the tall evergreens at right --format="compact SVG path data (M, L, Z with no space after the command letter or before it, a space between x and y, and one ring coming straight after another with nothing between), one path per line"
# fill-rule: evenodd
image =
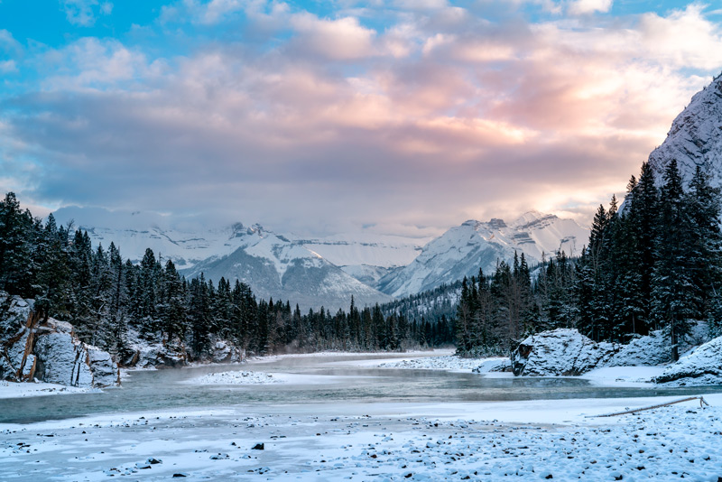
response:
M649 155L659 185L672 159L677 160L685 181L690 181L699 165L712 175L713 185L722 186L722 75L692 97L672 122L662 145Z

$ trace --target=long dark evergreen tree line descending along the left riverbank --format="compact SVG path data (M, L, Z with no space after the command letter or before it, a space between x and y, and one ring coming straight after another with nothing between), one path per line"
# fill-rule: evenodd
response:
M134 264L111 243L91 246L87 232L45 222L21 209L13 192L0 201L0 290L34 299L43 316L70 321L79 338L116 354L138 339L182 345L207 359L225 339L249 354L288 351L403 350L451 342L452 329L384 314L379 305L301 313L290 301L257 300L238 280L185 279L147 249Z

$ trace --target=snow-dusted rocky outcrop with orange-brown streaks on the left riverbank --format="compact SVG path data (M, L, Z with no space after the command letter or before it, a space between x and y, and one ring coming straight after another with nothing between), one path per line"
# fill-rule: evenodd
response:
M83 343L72 325L32 311L32 301L0 292L0 378L70 386L119 384L110 354Z

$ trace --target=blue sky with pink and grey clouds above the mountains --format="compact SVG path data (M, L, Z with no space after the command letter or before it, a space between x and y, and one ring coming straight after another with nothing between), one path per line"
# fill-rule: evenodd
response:
M440 235L588 222L722 70L722 5L0 0L0 190Z

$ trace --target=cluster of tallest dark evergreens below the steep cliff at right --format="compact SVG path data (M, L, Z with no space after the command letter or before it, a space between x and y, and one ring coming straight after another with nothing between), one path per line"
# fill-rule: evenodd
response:
M625 341L664 329L676 359L695 320L719 333L722 303L720 191L699 167L685 191L677 162L654 185L649 164L628 186L625 211L597 211L577 265L577 327L588 337Z

